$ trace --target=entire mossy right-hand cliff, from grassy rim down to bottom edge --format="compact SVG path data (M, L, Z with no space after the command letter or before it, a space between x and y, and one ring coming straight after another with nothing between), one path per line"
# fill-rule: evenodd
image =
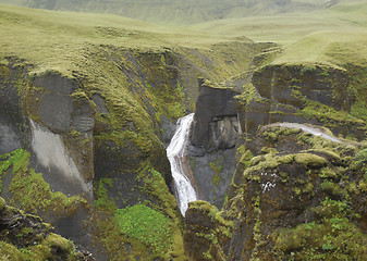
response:
M253 91L236 97L244 141L240 135L228 200L218 214L233 226L228 240L219 239L225 226L205 225L212 215L192 206L185 235L196 237L184 237L189 260L365 259L366 122L354 116L364 113L358 72L348 65L271 64L253 73ZM317 136L292 124L271 125L279 122L315 124ZM326 135L332 133L339 140ZM205 246L205 238L218 247L194 247Z

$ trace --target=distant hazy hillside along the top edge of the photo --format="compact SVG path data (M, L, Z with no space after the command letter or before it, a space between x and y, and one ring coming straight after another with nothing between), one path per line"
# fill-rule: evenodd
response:
M159 24L194 24L211 20L308 12L338 1L330 0L1 0L48 10L112 13Z

